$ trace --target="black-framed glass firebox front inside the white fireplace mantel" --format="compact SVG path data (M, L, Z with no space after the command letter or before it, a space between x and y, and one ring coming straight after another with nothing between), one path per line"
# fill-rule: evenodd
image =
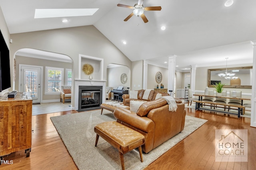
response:
M87 91L82 90L81 94L81 107L88 108L100 106L100 90L98 91Z

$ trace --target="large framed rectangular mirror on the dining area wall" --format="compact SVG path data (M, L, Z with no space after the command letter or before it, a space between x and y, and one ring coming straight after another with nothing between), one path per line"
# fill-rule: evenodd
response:
M252 66L227 68L228 73L238 77L235 80L219 76L225 72L226 68L208 69L208 87L214 87L213 84L221 82L226 88L252 88Z

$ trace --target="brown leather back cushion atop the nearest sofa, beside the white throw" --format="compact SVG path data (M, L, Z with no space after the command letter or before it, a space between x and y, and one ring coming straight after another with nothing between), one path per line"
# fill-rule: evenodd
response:
M141 117L145 116L149 113L150 110L158 108L158 107L162 107L166 104L167 104L167 102L163 98L145 102L139 107L139 109L137 111L137 115L139 115Z

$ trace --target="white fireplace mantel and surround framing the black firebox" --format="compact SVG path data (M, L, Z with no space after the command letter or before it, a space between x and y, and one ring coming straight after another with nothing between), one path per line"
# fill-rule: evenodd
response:
M78 110L78 93L79 86L102 86L102 103L105 103L106 98L106 80L84 80L84 79L76 79L75 80L75 110Z

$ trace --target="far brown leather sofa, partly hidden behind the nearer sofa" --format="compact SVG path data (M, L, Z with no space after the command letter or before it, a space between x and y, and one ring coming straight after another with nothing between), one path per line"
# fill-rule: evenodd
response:
M129 94L123 94L122 95L124 106L130 106L130 101L131 100L139 100L139 101L152 101L152 100L155 100L156 94L158 94L158 93L162 94L162 96L170 96L170 94L168 94L168 93L161 93L161 92L157 92L157 91L151 90L151 92L150 92L150 94L148 96L148 100L145 100L145 99L142 99L145 90L142 89L142 90L136 90L136 91L138 91L138 99L130 99L130 95Z

